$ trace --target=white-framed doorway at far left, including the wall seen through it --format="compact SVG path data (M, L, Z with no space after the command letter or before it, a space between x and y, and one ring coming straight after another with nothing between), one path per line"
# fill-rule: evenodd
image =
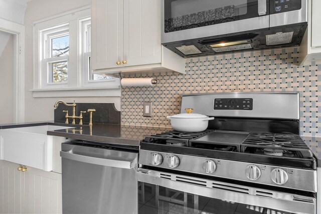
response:
M25 118L25 26L0 19L0 124Z

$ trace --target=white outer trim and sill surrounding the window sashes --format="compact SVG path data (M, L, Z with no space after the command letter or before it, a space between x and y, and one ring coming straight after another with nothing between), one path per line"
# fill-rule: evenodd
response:
M38 22L34 22L34 37L33 37L33 52L34 52L34 84L33 89L30 91L33 92L33 97L104 97L104 96L121 96L120 93L120 81L119 79L102 81L99 84L93 84L91 81L86 81L86 74L83 71L85 65L84 58L82 56L82 38L81 34L81 25L79 25L80 20L83 20L85 17L90 18L91 7L87 6L77 10L73 10L64 14L60 14L48 19L44 19ZM69 22L67 22L69 21ZM63 26L68 25L68 23L77 22L78 29L69 28L69 32L77 33L78 40L70 40L69 46L71 51L77 51L77 54L69 56L69 59L72 58L73 62L77 63L68 63L68 82L67 83L54 83L54 84L44 84L48 78L48 72L43 72L45 67L48 65L48 59L45 59L45 53L43 53L44 48L42 44L39 44L38 41L42 39L42 29L49 29L51 26ZM75 25L74 25L75 26ZM72 48L78 46L78 48ZM73 50L72 50L73 49ZM66 58L66 57L65 57ZM65 59L64 58L64 59ZM62 59L62 58L61 58ZM58 58L57 58L58 60ZM41 62L41 63L39 63ZM42 65L43 66L42 66ZM88 66L88 65L87 65ZM74 71L73 78L70 77L70 71ZM44 75L47 74L47 75ZM87 78L88 79L88 78Z

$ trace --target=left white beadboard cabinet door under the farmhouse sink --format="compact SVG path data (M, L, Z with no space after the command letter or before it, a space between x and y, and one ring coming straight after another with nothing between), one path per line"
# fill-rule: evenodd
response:
M25 173L17 163L0 160L0 213L25 213Z

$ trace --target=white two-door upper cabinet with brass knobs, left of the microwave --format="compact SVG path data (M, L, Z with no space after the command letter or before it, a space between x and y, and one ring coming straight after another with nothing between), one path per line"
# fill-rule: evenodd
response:
M185 73L185 59L161 45L161 0L93 0L91 17L93 73Z

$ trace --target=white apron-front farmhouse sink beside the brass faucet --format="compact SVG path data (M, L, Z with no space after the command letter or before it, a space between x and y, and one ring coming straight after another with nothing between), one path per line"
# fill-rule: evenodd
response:
M51 171L53 136L47 131L70 127L43 125L0 130L0 159Z

